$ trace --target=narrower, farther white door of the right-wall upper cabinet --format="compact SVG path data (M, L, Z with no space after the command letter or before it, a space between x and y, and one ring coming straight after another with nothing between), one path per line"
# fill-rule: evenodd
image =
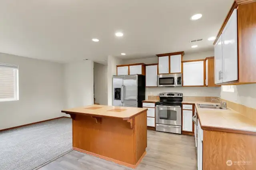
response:
M215 84L222 83L221 79L221 72L222 72L222 35L216 42L214 46L214 77L215 77Z

